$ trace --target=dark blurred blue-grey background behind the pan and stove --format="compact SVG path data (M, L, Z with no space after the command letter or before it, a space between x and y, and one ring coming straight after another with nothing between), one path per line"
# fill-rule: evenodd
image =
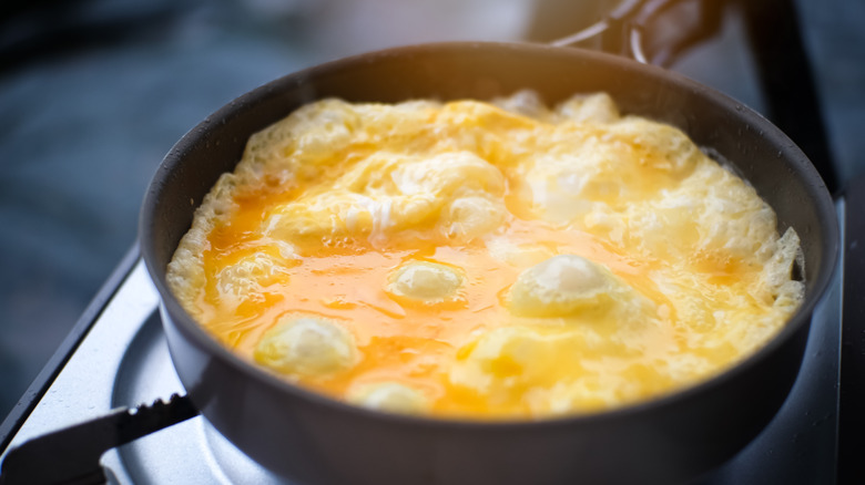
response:
M139 207L162 156L207 114L267 81L327 60L428 41L548 42L579 31L620 3L2 2L0 420L133 246ZM703 22L709 34L668 62L670 69L770 118L770 107L786 107L785 120L811 120L782 128L813 159L828 164L834 190L863 173L865 2L690 3L702 3L713 16ZM759 11L746 16L753 6ZM785 17L787 11L794 16ZM671 18L660 30L683 31ZM780 37L791 21L801 39ZM755 53L760 37L770 45L780 39L780 45ZM784 64L797 61L800 51L808 62L804 68ZM783 75L761 78L762 69L776 62L784 64ZM769 95L811 81L817 103L812 110L806 99L773 104ZM816 133L821 131L825 137ZM806 149L815 138L816 147Z

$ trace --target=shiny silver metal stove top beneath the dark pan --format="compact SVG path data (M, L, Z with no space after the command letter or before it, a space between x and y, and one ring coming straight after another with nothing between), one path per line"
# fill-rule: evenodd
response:
M843 202L838 215L844 220ZM731 462L694 485L836 482L842 279L837 271L817 306L800 376L775 419ZM11 446L118 406L184 393L157 305L156 290L138 260ZM101 463L113 484L281 483L201 416L111 450Z

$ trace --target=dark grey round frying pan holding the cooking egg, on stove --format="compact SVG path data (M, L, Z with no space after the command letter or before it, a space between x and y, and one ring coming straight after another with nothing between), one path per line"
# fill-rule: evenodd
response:
M233 354L180 306L166 265L246 140L314 100L480 99L536 90L547 104L606 91L623 113L675 125L727 161L802 239L805 299L764 348L679 392L590 415L472 422L393 415L293 386ZM207 117L171 149L146 193L140 239L181 382L204 417L260 464L304 484L675 484L731 458L797 375L811 313L838 251L834 206L805 155L736 101L660 68L549 45L436 43L301 71Z

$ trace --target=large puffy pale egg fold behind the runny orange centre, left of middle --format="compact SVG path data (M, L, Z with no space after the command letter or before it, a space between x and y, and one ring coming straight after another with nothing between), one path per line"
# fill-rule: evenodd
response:
M435 226L471 240L496 230L507 209L505 177L469 152L428 157L379 152L316 190L271 209L263 233L297 237L365 237L385 245L399 231Z

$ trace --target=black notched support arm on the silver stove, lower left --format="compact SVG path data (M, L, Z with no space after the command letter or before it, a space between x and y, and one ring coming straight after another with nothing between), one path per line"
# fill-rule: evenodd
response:
M194 417L189 396L167 403L120 407L111 413L24 442L12 448L0 468L0 485L104 484L99 461L109 448Z

